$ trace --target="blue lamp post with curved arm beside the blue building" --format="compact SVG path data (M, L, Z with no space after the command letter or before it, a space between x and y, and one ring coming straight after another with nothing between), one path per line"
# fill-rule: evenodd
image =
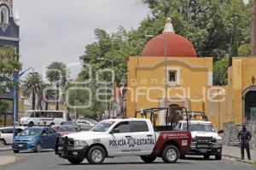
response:
M16 83L19 83L20 81L20 77L26 73L26 71L29 71L29 70L32 70L32 73L34 73L34 69L32 67L26 69L25 71L22 71L20 73L18 73L15 78L14 78L14 115L13 115L13 120L14 120L14 127L13 127L13 143L15 142L15 122L16 122L16 117L17 117L17 101L19 101L19 94L16 95L17 92L19 92L19 89L18 91L16 92L16 88L19 88L19 84L16 84ZM17 86L16 86L17 85Z

